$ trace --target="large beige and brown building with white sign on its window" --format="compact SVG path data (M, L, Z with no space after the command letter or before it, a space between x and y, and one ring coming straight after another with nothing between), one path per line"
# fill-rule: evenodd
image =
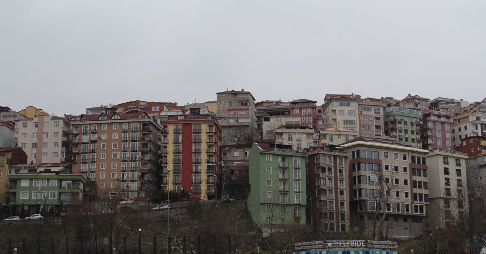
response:
M357 138L341 147L351 155L351 217L372 235L374 221L385 218L376 234L409 238L425 228L429 204L427 150L391 138Z

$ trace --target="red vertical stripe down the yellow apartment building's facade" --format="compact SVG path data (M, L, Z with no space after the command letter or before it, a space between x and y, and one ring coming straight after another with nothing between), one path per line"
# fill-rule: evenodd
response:
M192 124L182 124L182 188L192 194Z

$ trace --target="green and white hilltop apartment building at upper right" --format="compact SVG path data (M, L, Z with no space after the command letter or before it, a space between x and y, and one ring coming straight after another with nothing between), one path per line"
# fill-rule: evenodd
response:
M398 106L385 108L385 135L421 148L422 111Z

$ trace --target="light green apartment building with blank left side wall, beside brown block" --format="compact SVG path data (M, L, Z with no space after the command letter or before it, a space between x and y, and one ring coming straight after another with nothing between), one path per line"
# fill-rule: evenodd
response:
M305 224L307 155L288 145L254 143L248 210L257 224Z

